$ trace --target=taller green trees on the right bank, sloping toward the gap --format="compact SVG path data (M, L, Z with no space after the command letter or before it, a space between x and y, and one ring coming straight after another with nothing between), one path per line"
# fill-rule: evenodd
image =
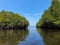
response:
M51 6L44 12L36 26L60 28L60 0L52 0Z

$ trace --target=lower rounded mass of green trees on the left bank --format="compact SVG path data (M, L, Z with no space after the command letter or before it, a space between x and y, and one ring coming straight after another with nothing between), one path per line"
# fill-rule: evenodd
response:
M26 28L28 25L26 18L17 13L5 10L0 12L0 28Z

